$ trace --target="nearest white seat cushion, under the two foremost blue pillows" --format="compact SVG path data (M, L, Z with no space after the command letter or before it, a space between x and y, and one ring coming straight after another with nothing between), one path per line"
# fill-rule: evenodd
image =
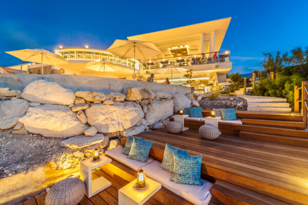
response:
M187 201L198 205L209 203L211 198L210 189L213 187L213 183L204 179L201 179L202 183L204 183L202 186L175 183L170 181L172 173L160 168L160 165L160 161L153 160L143 166L142 169L147 177L160 182L163 187L185 198Z

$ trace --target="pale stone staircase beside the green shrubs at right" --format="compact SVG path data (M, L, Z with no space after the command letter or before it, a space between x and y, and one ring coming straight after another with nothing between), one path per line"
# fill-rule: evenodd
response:
M247 100L247 111L291 112L286 99L279 97L237 95Z

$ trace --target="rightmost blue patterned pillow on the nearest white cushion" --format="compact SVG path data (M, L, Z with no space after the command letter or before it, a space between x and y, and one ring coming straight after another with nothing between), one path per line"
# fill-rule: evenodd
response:
M185 185L202 185L202 156L185 156L174 153L174 172L171 181Z

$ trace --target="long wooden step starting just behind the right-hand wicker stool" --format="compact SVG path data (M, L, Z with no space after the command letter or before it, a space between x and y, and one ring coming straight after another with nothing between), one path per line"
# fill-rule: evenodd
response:
M278 127L275 128L275 127L266 127L257 125L236 125L236 124L228 124L225 122L219 122L218 128L222 130L259 132L266 134L308 138L308 131L306 130L294 130L287 128L278 128Z

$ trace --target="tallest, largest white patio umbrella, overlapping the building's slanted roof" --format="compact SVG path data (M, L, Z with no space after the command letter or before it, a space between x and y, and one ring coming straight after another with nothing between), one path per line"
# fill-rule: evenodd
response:
M133 79L135 79L135 59L147 59L158 55L161 51L152 42L140 40L114 40L107 49L108 52L120 58L133 58Z

